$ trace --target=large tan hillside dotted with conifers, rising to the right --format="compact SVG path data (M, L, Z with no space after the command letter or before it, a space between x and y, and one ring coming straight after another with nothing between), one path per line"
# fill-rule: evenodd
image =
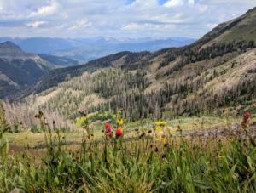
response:
M120 52L44 74L17 99L67 118L256 111L256 8L182 48Z

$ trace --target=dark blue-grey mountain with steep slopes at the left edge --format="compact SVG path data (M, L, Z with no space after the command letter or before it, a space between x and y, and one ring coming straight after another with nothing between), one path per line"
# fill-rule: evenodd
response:
M19 93L44 73L71 63L78 64L67 58L26 53L10 41L0 43L0 99Z

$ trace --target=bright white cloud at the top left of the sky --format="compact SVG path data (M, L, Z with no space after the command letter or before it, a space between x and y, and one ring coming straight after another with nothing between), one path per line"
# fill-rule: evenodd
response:
M55 11L58 9L59 4L56 2L51 2L49 5L42 6L38 8L36 11L33 11L29 16L47 16L50 14L54 14Z

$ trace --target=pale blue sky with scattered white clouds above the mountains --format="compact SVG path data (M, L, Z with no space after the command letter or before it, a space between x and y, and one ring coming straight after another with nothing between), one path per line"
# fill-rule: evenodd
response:
M256 0L0 0L0 37L199 38Z

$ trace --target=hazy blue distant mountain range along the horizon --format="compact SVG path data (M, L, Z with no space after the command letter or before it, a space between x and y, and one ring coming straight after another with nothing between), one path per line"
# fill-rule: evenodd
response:
M121 51L151 51L161 48L182 47L195 42L193 38L172 37L168 39L154 40L141 39L114 39L114 38L90 38L90 39L65 39L55 37L0 37L0 43L12 41L24 51L34 54L49 54L78 60L79 63L94 60L108 54Z

